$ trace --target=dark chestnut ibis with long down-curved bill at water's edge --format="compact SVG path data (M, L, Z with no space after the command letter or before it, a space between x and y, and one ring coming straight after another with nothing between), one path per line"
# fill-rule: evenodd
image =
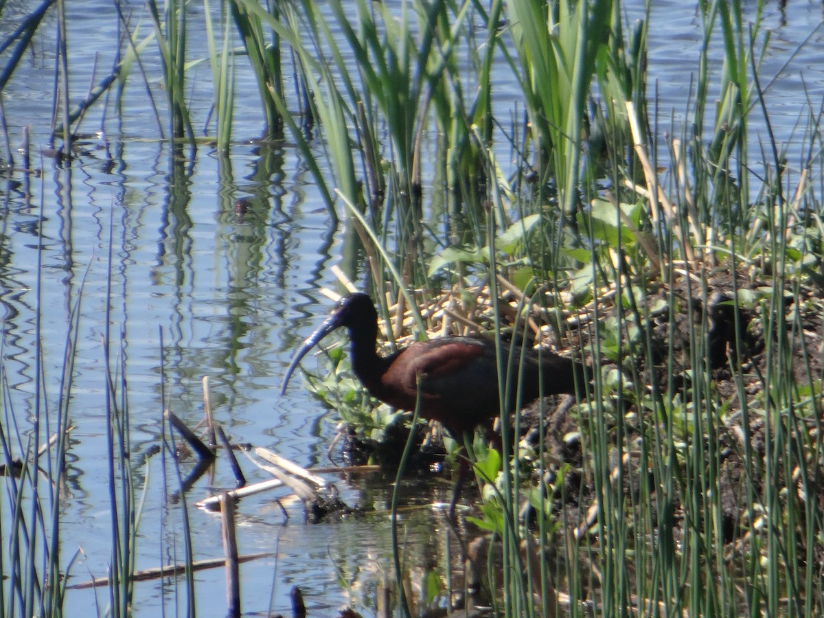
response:
M452 437L461 440L478 425L491 426L501 413L498 361L494 341L473 337L442 337L410 344L389 356L377 353L377 311L363 293L342 298L330 316L301 345L283 378L281 394L301 359L326 335L345 326L352 342L353 371L369 393L399 410L414 410L420 393L420 415L437 420ZM506 367L510 349L501 344ZM582 394L588 368L569 358L544 352L528 352L520 377L520 349L513 350L513 371L507 391L509 413L516 405L515 386L520 384L521 405L541 395ZM454 499L453 499L454 505Z

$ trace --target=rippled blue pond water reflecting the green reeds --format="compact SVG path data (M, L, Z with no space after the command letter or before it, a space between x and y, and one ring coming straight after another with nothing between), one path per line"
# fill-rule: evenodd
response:
M118 34L109 2L87 3L86 7L93 10L73 13L70 20L73 101L84 96L87 84L111 66ZM131 8L134 24L143 6ZM754 10L750 5L745 8ZM200 11L201 7L193 5L193 19L199 18ZM626 2L625 11L630 22L641 14L637 2ZM812 2L791 3L786 12L770 3L765 23L773 32L773 43L761 75L763 82L813 32L821 11ZM10 15L7 7L0 39L14 26ZM652 17L651 84L658 84L660 112L668 123L671 113L677 119L685 117L690 96L687 76L697 66L700 19L679 2L655 2ZM148 31L146 23L144 16L143 35ZM26 63L2 92L12 145L20 143L23 128L30 126L32 152L48 146L53 40L49 36L35 39ZM193 37L192 44L198 43L204 41ZM770 86L767 105L781 142L798 140L792 130L807 105L807 96L813 107L822 101L821 49L822 31L817 30L808 47ZM191 54L204 55L205 50L191 49ZM147 55L147 72L157 76L157 64L152 65L151 54ZM718 67L715 70L717 82ZM211 100L208 64L194 71L199 79L192 85L191 112L195 124L203 124ZM506 82L496 86L500 118L510 117L518 98L514 80L511 89L507 86ZM157 83L152 82L152 88L156 97L162 97ZM201 379L208 376L213 414L232 442L267 447L303 466L327 462L335 415L311 400L299 379L293 380L286 396L281 398L278 393L295 344L329 307L319 289L337 288L329 267L340 259L341 232L332 226L311 175L288 140L270 147L249 143L261 126L250 75L239 74L237 93L237 108L244 114L236 119L238 143L232 147L231 171L208 147L199 147L196 157L180 163L175 172L168 146L159 140L141 79L133 74L123 121L111 111L105 119L100 110L90 112L82 130L91 134L102 128L105 138L85 139L84 152L71 168L38 158L32 165L43 171L41 176L16 171L4 180L0 315L3 369L11 400L2 418L3 428L12 426L13 415L21 432L30 429L35 412L37 368L33 359L38 328L43 389L53 410L56 407L70 312L78 299L82 303L71 406L72 459L61 499L64 561L82 548L70 583L90 574L105 575L110 562L108 473L102 463L106 402L101 343L109 298L113 337L119 340L120 330L124 333L135 460L159 444L165 407L190 426L199 422L203 417ZM250 199L242 219L234 210L239 198ZM35 320L38 290L44 307L40 325ZM118 353L119 349L113 349L113 358ZM311 367L313 362L307 358L304 363ZM185 462L185 471L190 465ZM267 478L243 458L241 465L250 481ZM138 468L138 486L147 487L138 569L182 559L180 511L166 503L162 474L158 456ZM350 503L386 505L386 490L381 489L385 481L377 488L363 485L362 480L339 479L337 483ZM214 474L194 485L187 500L191 504L232 486L225 461L218 461ZM291 519L284 524L270 496L240 504L241 553L276 553L241 566L244 611L265 612L271 604L275 614L288 613L293 585L303 589L316 616L330 615L347 602L374 602L377 582L392 578L388 517L350 518L307 527L297 505L288 510ZM6 517L4 511L2 518ZM195 510L190 517L195 559L221 556L218 517ZM432 556L446 555L442 520L424 510L410 514L405 524L407 546L418 552L414 573L423 577L426 569L437 567L443 574L449 568L446 558L428 564ZM346 585L341 586L339 579ZM201 613L222 614L222 570L201 571L196 580ZM95 594L105 606L104 590L70 592L68 615L86 614ZM155 616L161 606L168 611L175 606L176 595L182 594L182 588L170 583L138 583L137 613ZM178 602L183 605L182 600Z

